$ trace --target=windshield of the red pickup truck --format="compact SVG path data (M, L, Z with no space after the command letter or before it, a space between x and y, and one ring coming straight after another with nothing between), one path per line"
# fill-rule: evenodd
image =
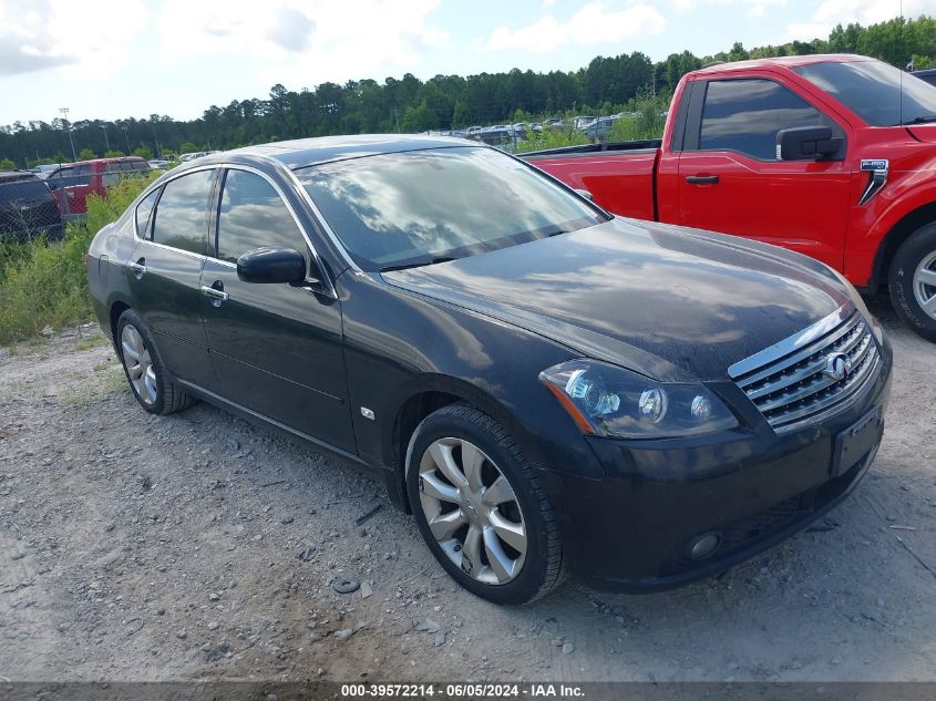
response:
M811 63L795 66L793 71L839 100L871 126L936 121L936 87L887 63Z

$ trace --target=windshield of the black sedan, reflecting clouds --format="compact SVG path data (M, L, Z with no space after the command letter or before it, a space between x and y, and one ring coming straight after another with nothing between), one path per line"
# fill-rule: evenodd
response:
M392 153L297 175L364 270L463 258L606 220L493 148Z

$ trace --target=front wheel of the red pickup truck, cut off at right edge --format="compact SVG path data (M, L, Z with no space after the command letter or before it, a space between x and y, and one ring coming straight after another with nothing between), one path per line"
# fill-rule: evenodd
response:
M887 281L897 313L915 333L936 342L936 223L901 245Z

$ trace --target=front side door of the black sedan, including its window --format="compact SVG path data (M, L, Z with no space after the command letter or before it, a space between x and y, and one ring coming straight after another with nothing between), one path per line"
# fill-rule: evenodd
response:
M312 252L274 181L228 169L218 197L215 255L202 272L203 313L220 393L243 408L343 451L356 451L330 287L244 282L237 258L256 248Z

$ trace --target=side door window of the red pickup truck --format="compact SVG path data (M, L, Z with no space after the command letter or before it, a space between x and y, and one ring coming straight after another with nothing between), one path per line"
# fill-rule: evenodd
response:
M776 132L795 126L831 126L833 135L842 135L837 124L780 83L764 79L709 81L699 148L775 161Z

